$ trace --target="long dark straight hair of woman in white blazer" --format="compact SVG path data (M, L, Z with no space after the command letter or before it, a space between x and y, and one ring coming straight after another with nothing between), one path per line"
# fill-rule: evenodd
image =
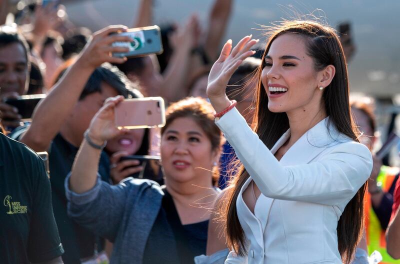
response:
M328 125L334 125L340 133L358 141L358 132L351 118L348 102L349 87L346 61L334 29L318 22L301 20L283 21L270 29L270 32L267 33L269 38L262 56L262 64L256 74L258 84L253 129L262 142L270 149L289 128L286 113L275 113L268 109L268 97L260 78L265 64L264 58L272 41L284 33L295 33L304 38L307 53L313 58L315 70L319 71L327 65L335 67L335 75L330 84L324 88L322 94L326 114L329 116ZM233 248L239 255L244 255L246 239L237 218L236 199L249 175L243 166L241 166L237 175L231 182L233 187L226 195L227 202L224 203L225 207L220 212L226 224L225 232L229 247ZM364 184L348 202L337 223L338 250L344 263L350 262L361 237L365 186Z

